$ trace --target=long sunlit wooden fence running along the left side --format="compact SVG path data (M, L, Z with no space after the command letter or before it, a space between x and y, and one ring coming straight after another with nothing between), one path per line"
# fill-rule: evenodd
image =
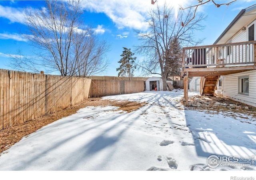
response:
M0 130L88 98L91 80L0 69Z

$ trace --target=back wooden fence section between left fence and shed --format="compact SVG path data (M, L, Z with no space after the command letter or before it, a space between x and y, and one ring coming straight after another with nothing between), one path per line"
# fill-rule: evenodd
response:
M92 80L89 96L102 97L143 91L143 80Z

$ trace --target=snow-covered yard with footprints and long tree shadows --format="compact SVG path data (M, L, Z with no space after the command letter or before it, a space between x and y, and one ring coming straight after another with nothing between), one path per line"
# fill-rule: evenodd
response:
M114 106L80 109L4 152L0 170L256 170L253 114L192 110L182 97L183 90L106 96L148 104L130 113ZM211 155L244 163L211 168Z

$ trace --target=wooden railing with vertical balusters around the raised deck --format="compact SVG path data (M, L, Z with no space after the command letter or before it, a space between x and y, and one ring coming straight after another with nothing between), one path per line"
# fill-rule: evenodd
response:
M183 68L256 65L256 41L183 48Z

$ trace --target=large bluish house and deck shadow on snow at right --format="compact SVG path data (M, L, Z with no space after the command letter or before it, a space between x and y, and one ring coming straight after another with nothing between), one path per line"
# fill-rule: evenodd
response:
M238 156L248 158L256 153L255 125L231 116L185 110L186 124L198 156ZM184 145L187 145L184 142ZM191 145L188 143L188 145Z

